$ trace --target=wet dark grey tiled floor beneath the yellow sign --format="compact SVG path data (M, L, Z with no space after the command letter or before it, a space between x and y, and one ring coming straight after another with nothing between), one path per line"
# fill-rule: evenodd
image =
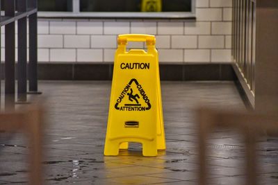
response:
M233 82L162 82L167 150L142 157L142 148L104 157L111 82L40 82L47 97L46 184L197 184L197 127L193 109L245 109ZM244 184L241 137L216 130L208 139L210 184ZM278 184L278 139L260 142L261 184ZM28 154L22 134L0 134L0 184L26 184Z

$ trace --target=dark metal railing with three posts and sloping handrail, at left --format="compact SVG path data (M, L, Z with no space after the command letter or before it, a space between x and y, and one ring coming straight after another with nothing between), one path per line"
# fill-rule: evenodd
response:
M37 0L2 0L3 12L0 26L5 26L5 107L15 105L15 71L17 71L17 102L25 103L28 91L38 92L38 18ZM0 0L1 4L1 0ZM28 25L27 25L28 18ZM18 62L15 65L15 23L17 21ZM27 50L27 26L29 28ZM27 67L27 51L29 62ZM15 70L17 68L17 70ZM28 68L28 77L27 77ZM28 84L27 84L28 78ZM29 93L28 92L28 93Z

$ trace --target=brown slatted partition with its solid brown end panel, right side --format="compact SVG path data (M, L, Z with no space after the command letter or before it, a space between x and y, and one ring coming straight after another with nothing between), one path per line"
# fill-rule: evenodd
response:
M278 111L278 1L233 0L234 71L254 109Z

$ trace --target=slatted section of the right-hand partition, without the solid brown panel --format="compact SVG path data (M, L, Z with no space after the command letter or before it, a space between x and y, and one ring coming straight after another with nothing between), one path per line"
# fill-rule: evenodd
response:
M234 68L254 102L256 0L234 0L232 17Z

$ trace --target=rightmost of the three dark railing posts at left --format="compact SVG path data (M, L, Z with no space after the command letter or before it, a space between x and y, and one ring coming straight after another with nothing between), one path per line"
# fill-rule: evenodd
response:
M28 6L38 8L37 0L28 0ZM28 94L41 94L38 91L38 13L29 16L29 64Z

